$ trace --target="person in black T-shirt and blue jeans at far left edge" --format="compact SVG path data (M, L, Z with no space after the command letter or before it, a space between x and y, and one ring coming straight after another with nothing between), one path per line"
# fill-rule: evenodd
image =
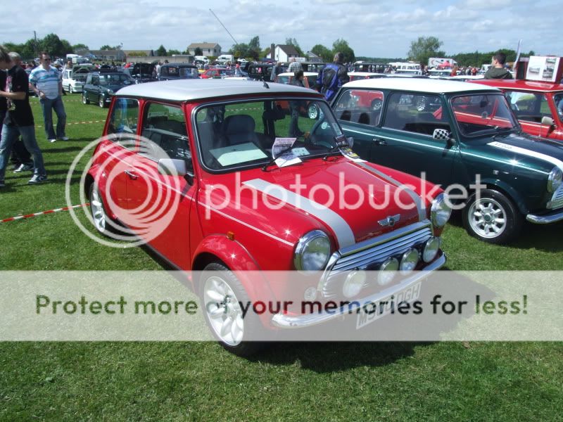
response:
M0 69L8 70L7 89L0 91L0 97L6 98L7 111L0 140L0 188L4 184L4 174L8 165L8 158L15 139L21 136L27 151L33 157L34 172L29 184L46 181L47 175L43 162L43 154L35 139L35 124L30 107L29 79L25 70L14 64L19 58L18 53L8 53L0 45Z

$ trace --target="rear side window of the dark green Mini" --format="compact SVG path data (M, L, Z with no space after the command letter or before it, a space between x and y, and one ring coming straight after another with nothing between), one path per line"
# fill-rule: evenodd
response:
M381 117L384 94L367 89L348 89L338 99L336 118L348 122L377 126Z

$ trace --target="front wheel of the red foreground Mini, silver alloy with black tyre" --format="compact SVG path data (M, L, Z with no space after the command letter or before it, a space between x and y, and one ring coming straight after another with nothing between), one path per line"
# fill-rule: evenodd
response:
M251 302L231 270L218 262L208 264L201 274L199 297L205 322L222 347L238 356L249 356L264 347L262 342L246 341L263 328L253 312L243 316L241 304L246 307Z

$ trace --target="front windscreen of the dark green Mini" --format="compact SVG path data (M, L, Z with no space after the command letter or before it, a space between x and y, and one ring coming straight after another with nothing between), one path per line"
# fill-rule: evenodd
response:
M499 129L518 127L505 96L464 94L450 100L457 127L464 136L494 134ZM442 113L441 108L434 113Z

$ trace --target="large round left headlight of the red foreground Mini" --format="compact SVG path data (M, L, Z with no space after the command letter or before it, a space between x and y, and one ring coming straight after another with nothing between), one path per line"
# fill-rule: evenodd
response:
M319 271L327 266L329 257L329 238L323 231L313 230L299 239L293 263L301 271Z

